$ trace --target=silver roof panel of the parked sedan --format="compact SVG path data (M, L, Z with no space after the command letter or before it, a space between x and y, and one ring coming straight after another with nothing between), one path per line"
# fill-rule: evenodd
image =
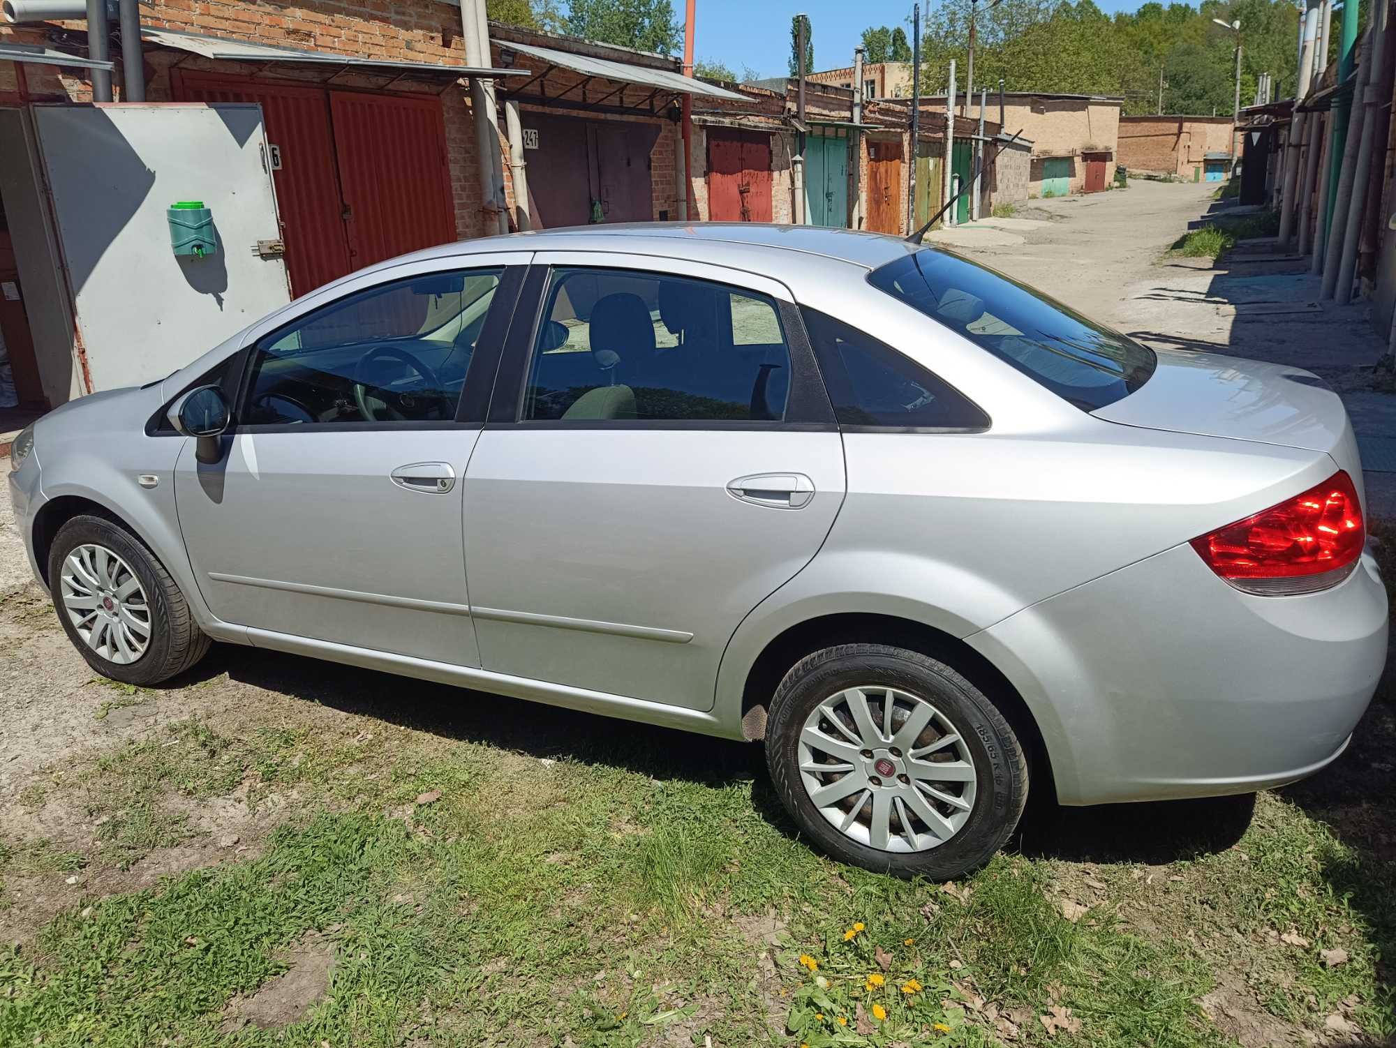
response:
M660 257L692 257L727 261L751 268L759 257L778 261L819 258L836 264L875 269L919 250L900 237L852 229L771 225L764 222L628 222L616 225L567 226L563 229L476 237L417 251L409 258L451 258L490 251L621 251ZM403 260L394 260L401 262Z

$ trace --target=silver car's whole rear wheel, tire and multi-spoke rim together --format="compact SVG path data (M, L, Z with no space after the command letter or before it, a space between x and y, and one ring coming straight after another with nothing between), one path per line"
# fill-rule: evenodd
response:
M766 763L786 809L845 862L946 879L987 862L1027 801L1027 762L997 706L917 652L807 656L771 703Z

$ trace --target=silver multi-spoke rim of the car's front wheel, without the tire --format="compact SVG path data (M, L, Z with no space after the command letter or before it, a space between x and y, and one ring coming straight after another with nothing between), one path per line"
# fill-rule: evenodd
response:
M126 666L149 647L145 587L105 546L78 546L63 560L59 600L78 636L107 661Z

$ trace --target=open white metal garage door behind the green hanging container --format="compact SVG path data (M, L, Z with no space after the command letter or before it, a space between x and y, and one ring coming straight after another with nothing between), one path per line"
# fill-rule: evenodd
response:
M88 391L162 378L290 300L261 106L35 106ZM170 247L202 201L218 251Z

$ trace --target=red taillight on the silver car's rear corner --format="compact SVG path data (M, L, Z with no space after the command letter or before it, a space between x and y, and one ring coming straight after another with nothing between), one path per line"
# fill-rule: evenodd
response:
M1237 589L1283 596L1342 582L1365 541L1357 488L1339 470L1294 498L1194 539L1192 548Z

